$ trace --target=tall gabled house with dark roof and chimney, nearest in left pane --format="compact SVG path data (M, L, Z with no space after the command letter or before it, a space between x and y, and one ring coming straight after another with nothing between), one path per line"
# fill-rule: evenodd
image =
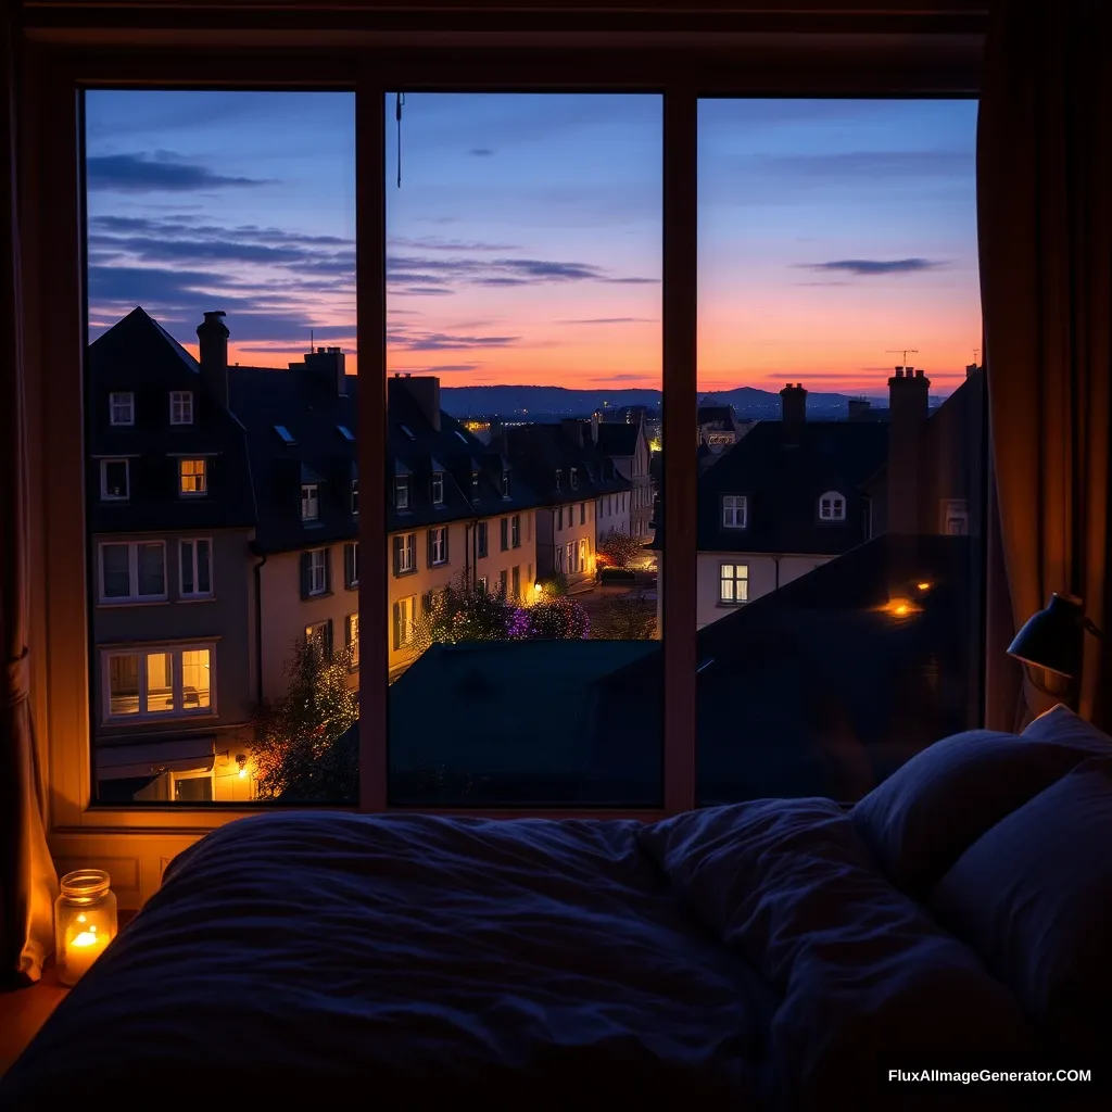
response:
M202 355L226 344L221 316ZM87 367L96 796L246 802L256 507L226 360L202 366L137 308Z

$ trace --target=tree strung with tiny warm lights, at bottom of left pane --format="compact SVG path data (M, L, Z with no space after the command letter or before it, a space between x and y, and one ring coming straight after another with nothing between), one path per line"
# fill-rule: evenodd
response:
M295 642L286 693L264 701L254 722L260 800L358 800L358 744L350 727L359 717L359 699L348 686L350 664L348 649L329 655L311 642Z

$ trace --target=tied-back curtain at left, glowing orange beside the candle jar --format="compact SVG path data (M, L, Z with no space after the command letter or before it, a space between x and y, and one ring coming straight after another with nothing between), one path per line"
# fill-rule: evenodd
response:
M0 17L0 981L33 982L53 949L58 878L47 847L47 777L30 699L27 415L17 215L18 4Z

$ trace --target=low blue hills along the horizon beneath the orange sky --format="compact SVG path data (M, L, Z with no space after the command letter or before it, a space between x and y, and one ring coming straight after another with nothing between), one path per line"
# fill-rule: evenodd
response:
M887 405L883 394L873 399L874 405ZM742 419L778 417L780 393L761 390L754 386L739 386L701 396L707 405L732 405ZM815 416L844 416L848 396L845 394L808 394L807 413ZM661 391L645 389L569 390L563 386L446 386L440 390L440 405L453 417L492 417L500 415L537 415L586 417L604 407L620 409L624 406L661 407Z

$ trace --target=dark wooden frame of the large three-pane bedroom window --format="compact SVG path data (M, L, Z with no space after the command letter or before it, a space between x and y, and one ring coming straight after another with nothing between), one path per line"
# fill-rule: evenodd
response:
M766 6L765 6L766 7ZM603 13L597 14L600 19ZM734 13L731 27L744 24L777 36L770 49L763 34L746 38L735 34L727 46L702 23L695 40L683 51L635 43L631 49L584 51L580 44L550 46L550 40L529 38L513 48L496 39L445 40L440 46L383 43L379 31L348 28L344 46L336 48L336 27L353 19L351 13L314 13L311 29L296 30L280 26L262 33L266 13L245 14L244 28L232 32L221 28L218 17L191 13L172 16L161 26L142 32L142 50L136 50L135 30L125 20L106 22L97 36L86 28L68 23L66 11L58 17L29 9L27 29L29 64L22 69L19 98L26 133L33 137L30 155L20 162L20 196L27 235L21 258L28 276L29 294L24 299L28 320L29 421L32 437L51 430L54 450L40 453L32 460L32 498L38 513L32 514L38 550L47 554L37 569L50 587L51 607L40 617L41 636L50 645L49 654L37 654L33 677L36 711L40 721L50 721L54 743L49 754L51 840L56 847L72 846L70 856L79 856L79 842L67 841L72 834L101 828L106 832L127 828L156 828L163 832L166 848L173 852L191 844L197 831L207 830L232 817L255 814L257 810L198 808L176 806L172 814L163 808L146 814L133 807L92 805L90 748L90 682L87 646L72 637L75 615L87 620L88 579L85 563L72 553L87 552L86 507L81 484L77 480L86 466L82 454L83 398L81 374L85 361L85 314L82 291L83 205L82 173L73 152L81 148L79 98L82 88L260 88L355 91L357 208L357 290L359 347L368 353L359 366L360 377L379 383L386 379L385 331L386 296L383 259L386 255L384 202L386 152L383 105L387 91L420 88L443 92L513 91L590 91L663 93L664 143L664 274L662 284L663 329L663 410L664 437L686 443L691 414L697 398L695 366L697 355L697 189L696 132L697 102L701 97L922 97L926 99L975 98L982 53L984 19L941 12L921 11L902 46L893 46L883 36L840 34L837 30L890 29L891 12L827 17L776 17L767 13ZM530 13L532 16L532 13ZM98 17L93 16L96 22ZM142 17L138 17L141 19ZM414 17L416 18L416 17ZM523 17L524 18L524 17ZM536 13L538 22L546 17ZM592 13L575 19L589 21ZM676 17L686 18L686 17ZM694 18L694 17L693 17ZM708 20L726 19L709 16ZM639 17L638 17L639 19ZM205 34L187 30L182 21L206 24ZM739 23L737 21L741 21ZM786 20L786 22L785 22ZM808 23L814 20L813 23ZM844 20L844 21L843 21ZM771 22L770 22L771 21ZM949 22L947 22L949 21ZM278 21L280 23L280 20ZM838 23L833 28L832 23ZM736 24L736 26L735 26ZM766 26L767 24L767 26ZM419 28L419 30L418 30ZM946 34L932 36L931 30ZM417 33L430 30L421 17ZM801 33L807 32L810 33ZM953 32L953 33L951 33ZM623 32L616 32L619 37ZM694 32L693 32L694 34ZM451 39L451 33L448 33ZM413 40L410 40L413 41ZM222 43L222 49L216 49ZM296 67L291 61L297 62ZM51 127L41 126L43 119ZM42 198L49 185L50 203ZM48 262L49 260L49 262ZM42 277L49 265L50 302L47 302ZM63 311L58 308L62 306ZM70 311L72 310L72 311ZM44 396L51 371L51 394ZM358 396L360 426L367 430L359 438L360 474L370 481L373 505L359 518L359 539L367 563L359 586L360 612L389 614L388 583L390 552L386 528L386 460L376 458L373 445L386 440L385 390L364 389ZM381 396L379 396L381 395ZM48 421L49 414L49 421ZM378 434L377 437L375 434ZM378 454L380 455L380 454ZM47 458L48 457L48 458ZM664 486L669 492L669 513L664 522L664 545L668 552L662 565L664 589L663 641L666 698L664 703L664 806L653 810L543 808L545 815L604 814L636 815L656 818L689 810L695 802L695 775L692 728L695 722L696 669L696 552L695 495L696 468L693 459L672 453L664 463ZM61 493L61 494L60 494ZM58 507L64 503L62 512ZM51 514L43 510L52 507ZM972 516L972 515L971 515ZM40 590L41 594L41 590ZM982 607L983 608L983 607ZM371 620L374 625L374 620ZM49 656L49 663L44 659ZM361 646L368 675L381 674L380 683L363 683L360 703L360 764L381 770L387 765L385 726L387 718L387 673L389 643L371 638ZM75 682L73 677L80 677ZM389 806L384 776L360 777L358 808L366 812L405 811ZM450 808L449 808L450 810ZM502 817L537 814L535 807L506 807L496 811L476 808L468 814L495 814ZM105 836L108 836L106 833ZM115 836L115 835L112 835ZM126 835L120 835L126 836ZM60 852L60 850L59 850ZM66 854L62 854L63 856ZM146 860L146 858L145 858ZM168 857L165 857L168 860ZM158 857L155 864L156 885ZM148 866L145 864L145 870ZM147 872L143 873L146 877ZM150 890L142 882L142 890Z

